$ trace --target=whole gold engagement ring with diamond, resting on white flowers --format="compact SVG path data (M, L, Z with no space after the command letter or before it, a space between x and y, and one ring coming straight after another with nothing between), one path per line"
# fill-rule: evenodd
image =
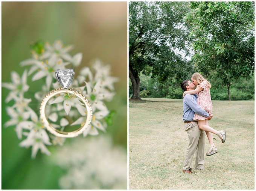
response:
M85 129L88 128L92 120L93 111L89 101L86 99L84 95L82 95L81 92L73 88L69 88L69 85L72 82L74 74L75 72L73 69L59 69L58 71L56 71L55 76L59 81L59 83L61 84L62 88L58 88L50 91L41 102L40 119L43 122L44 127L46 127L46 129L49 132L51 132L53 135L57 137L76 137L79 134L81 134L83 131L85 131ZM87 114L86 120L85 122L82 122L80 128L74 131L63 131L62 129L61 130L56 129L48 120L49 112L47 112L48 110L46 109L47 103L54 96L61 96L61 94L64 94L64 96L69 96L69 97L71 97L72 95L72 98L76 98L76 97L79 98L81 104L83 104L86 107L86 110L87 110L85 112Z

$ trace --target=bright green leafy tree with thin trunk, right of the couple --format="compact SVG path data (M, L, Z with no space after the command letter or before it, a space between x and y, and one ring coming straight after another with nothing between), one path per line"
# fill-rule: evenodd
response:
M228 87L254 74L254 2L191 2L186 16L195 39L193 61Z

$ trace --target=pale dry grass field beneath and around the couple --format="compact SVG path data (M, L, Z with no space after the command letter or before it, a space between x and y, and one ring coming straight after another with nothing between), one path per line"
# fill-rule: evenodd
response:
M226 142L213 135L218 153L187 174L182 99L144 100L129 101L129 189L254 189L254 101L212 101L209 125Z

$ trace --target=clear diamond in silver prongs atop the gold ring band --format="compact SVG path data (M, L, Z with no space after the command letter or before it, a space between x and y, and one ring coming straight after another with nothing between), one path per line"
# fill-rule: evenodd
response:
M62 87L68 88L73 80L75 72L74 69L59 69L55 72L56 79Z

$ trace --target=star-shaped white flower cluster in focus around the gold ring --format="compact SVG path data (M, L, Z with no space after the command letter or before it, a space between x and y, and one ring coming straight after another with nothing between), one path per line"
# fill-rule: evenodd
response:
M17 72L11 72L11 83L2 83L2 87L10 90L6 102L14 101L14 105L6 107L10 116L4 126L15 126L17 137L22 140L21 147L32 147L32 158L35 158L38 150L50 155L47 145L63 145L65 139L48 134L39 118L39 105L49 90L60 87L55 78L58 69L75 68L82 61L82 53L74 56L69 54L73 45L64 46L62 41L57 40L54 44L39 41L31 46L32 58L24 60L21 66L30 66L25 69L20 77ZM81 91L91 103L93 108L93 119L90 128L83 132L83 136L98 135L98 129L105 131L111 123L114 111L109 111L105 105L114 96L113 83L118 78L110 76L110 66L103 65L100 60L93 64L94 73L88 67L81 68L77 77L70 87ZM39 92L33 92L27 84L27 77L32 76L32 81L43 79L45 82ZM29 93L30 94L29 94ZM34 94L37 103L32 103L32 98L26 98ZM37 105L32 108L31 105ZM52 126L64 129L69 125L81 125L86 115L85 107L71 95L58 96L46 111ZM80 114L80 117L79 117ZM68 120L69 119L69 120ZM75 119L75 120L73 120ZM54 122L59 124L54 124Z

